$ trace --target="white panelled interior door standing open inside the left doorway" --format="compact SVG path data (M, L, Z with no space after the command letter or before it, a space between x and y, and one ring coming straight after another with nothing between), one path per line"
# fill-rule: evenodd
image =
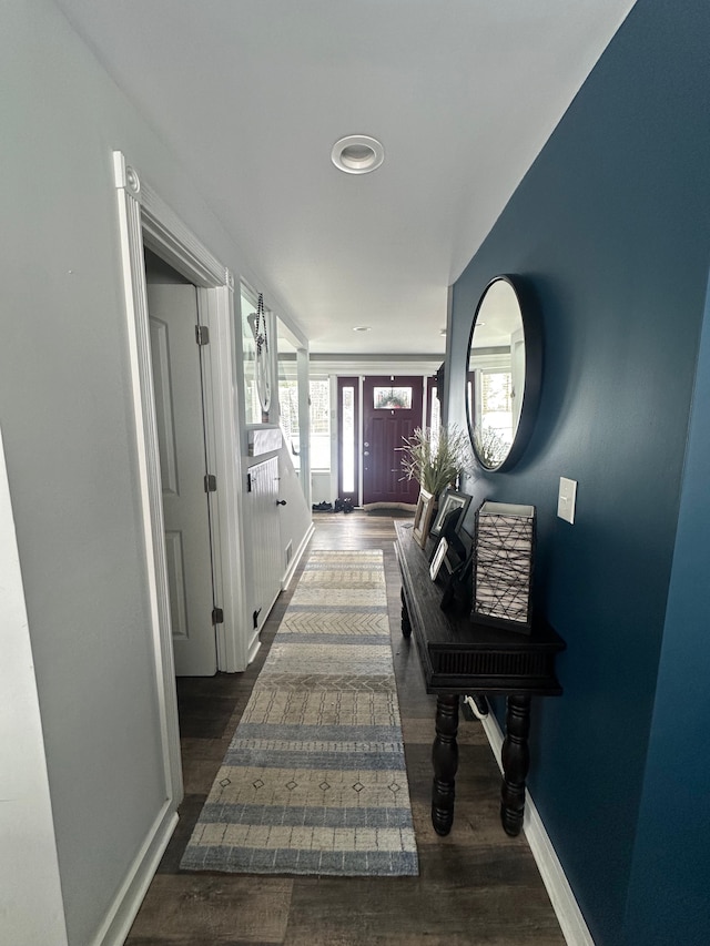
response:
M217 662L196 289L149 283L148 308L175 672L211 677Z

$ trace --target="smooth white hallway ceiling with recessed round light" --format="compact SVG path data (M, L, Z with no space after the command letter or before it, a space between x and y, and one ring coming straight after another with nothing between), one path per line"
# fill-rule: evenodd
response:
M312 352L351 356L444 353L447 286L633 6L57 2L181 155L265 305ZM337 171L346 134L382 141L382 167Z

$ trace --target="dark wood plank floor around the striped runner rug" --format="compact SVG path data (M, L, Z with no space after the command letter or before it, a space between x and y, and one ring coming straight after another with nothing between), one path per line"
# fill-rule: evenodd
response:
M179 680L185 800L128 946L564 946L525 837L508 837L500 826L500 776L478 722L463 721L459 729L454 828L439 837L432 827L435 698L425 693L414 642L399 633L393 520L361 511L320 513L315 526L310 549L384 551L419 876L321 878L179 871L294 579L274 606L257 659L244 673Z

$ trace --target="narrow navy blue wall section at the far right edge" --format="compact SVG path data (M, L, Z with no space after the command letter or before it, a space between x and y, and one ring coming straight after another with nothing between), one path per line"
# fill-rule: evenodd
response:
M626 943L710 943L710 301L700 358ZM669 864L671 868L669 869ZM661 894L659 896L659 893ZM680 933L680 936L678 936Z

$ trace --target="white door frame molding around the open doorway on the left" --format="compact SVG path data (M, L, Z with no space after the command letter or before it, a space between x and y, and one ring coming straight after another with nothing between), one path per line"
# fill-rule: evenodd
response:
M216 625L217 669L227 672L244 670L247 658L243 639L246 624L241 523L244 517L234 385L234 277L141 181L135 167L120 151L113 152L113 171L164 764L173 798L179 802L183 791L182 765L143 247L158 253L196 286L199 318L210 329L206 436L209 459L215 465L219 484L210 499L213 503L215 591L221 596L224 610L224 623ZM224 576L229 577L226 581Z

